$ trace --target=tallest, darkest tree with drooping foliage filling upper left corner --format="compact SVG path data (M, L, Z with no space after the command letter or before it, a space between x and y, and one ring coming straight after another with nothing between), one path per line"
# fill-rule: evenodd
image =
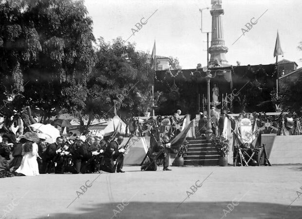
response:
M5 0L0 17L1 98L15 89L23 95L11 102L17 111L28 105L46 118L64 107L83 115L94 66L92 19L83 0Z

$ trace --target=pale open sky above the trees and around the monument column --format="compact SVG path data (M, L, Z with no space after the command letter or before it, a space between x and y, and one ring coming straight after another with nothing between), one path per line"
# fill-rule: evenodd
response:
M117 36L127 39L141 18L147 19L158 9L129 41L136 43L137 50L151 53L155 39L157 55L178 57L183 68L195 68L197 63L207 64L207 35L200 32L199 8L211 7L210 3L210 0L144 0L143 4L141 0L85 1L94 22L94 36L103 36L105 41ZM288 59L301 66L302 51L297 47L302 40L302 14L297 9L302 8L302 1L222 0L222 7L225 10L223 25L229 64L236 65L237 60L241 65L274 63L273 52L279 30L284 52L284 57L280 56L279 60ZM264 12L258 23L232 45L243 34L241 29L245 24ZM204 20L207 19L205 16Z

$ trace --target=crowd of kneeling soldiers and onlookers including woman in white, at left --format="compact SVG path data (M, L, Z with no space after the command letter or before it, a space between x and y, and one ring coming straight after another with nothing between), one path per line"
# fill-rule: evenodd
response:
M84 137L86 138L86 137ZM123 136L116 141L102 136L86 139L59 136L55 143L46 143L41 133L27 132L12 138L0 136L0 178L35 176L45 173L121 172L125 146ZM115 161L115 164L114 164Z

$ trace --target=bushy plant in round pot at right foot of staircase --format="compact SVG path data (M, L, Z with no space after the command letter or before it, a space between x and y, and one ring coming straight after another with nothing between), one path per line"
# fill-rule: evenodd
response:
M219 166L227 167L227 154L229 152L229 141L223 136L214 136L212 138L212 145L220 154Z

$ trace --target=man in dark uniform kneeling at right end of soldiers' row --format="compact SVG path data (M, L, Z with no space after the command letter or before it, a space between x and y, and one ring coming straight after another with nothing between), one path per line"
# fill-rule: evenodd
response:
M125 172L122 170L124 164L124 152L125 149L118 149L118 146L123 142L123 136L118 136L116 141L109 143L104 152L104 166L101 167L105 172ZM114 165L114 161L116 164Z

